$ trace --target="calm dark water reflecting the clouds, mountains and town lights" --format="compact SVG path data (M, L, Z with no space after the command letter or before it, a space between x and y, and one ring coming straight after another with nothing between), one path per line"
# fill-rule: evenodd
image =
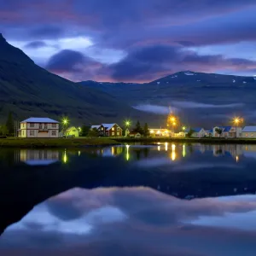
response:
M0 152L0 255L256 254L256 145Z

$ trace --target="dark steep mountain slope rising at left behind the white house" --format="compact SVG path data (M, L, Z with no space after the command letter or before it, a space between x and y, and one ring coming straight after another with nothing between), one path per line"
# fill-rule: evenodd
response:
M74 125L121 122L144 114L96 87L81 86L38 67L0 34L1 122L10 110L19 120L67 115Z

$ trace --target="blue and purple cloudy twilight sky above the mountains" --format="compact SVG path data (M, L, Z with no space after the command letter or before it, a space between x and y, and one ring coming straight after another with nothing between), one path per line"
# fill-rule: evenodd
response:
M0 0L0 32L73 81L256 74L255 0Z

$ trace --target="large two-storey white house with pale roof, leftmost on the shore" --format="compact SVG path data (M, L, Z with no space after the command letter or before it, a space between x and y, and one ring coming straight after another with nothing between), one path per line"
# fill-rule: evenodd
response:
M49 118L29 118L20 122L19 137L59 137L59 122Z

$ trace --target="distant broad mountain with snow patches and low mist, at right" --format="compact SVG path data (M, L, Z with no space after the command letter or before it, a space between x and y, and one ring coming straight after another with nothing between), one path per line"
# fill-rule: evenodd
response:
M256 77L183 71L144 84L84 81L138 109L152 112L171 107L187 125L229 125L235 116L246 124L256 117Z

